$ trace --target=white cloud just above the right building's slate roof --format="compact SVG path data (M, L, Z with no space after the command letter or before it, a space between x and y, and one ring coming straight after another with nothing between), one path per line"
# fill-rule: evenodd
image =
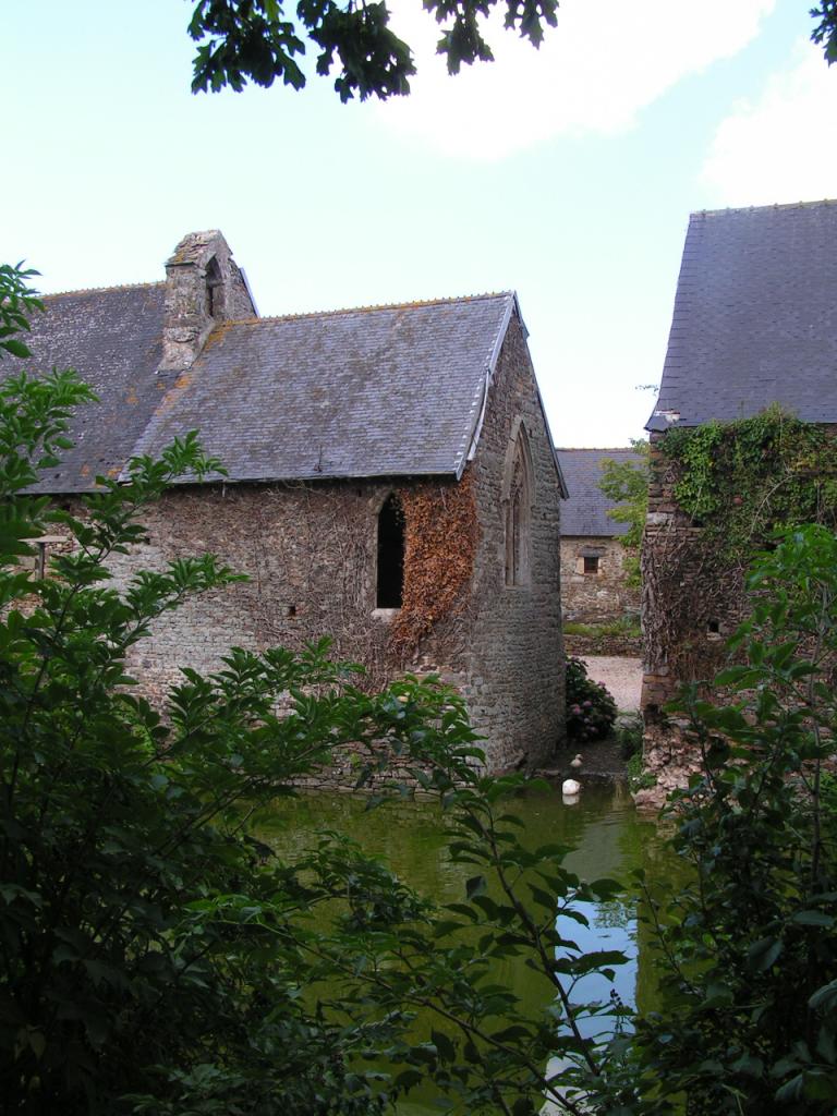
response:
M713 205L837 198L837 67L800 44L792 65L718 127L702 179Z

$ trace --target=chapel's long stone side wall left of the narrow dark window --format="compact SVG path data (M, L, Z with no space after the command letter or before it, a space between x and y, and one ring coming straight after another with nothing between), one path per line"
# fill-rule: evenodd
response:
M401 485L325 483L205 485L170 490L146 510L147 542L123 562L158 568L172 558L213 552L249 580L190 600L161 617L137 664L158 699L181 665L214 670L233 644L301 648L324 635L334 654L362 662L369 685L391 677L386 616L375 615L377 512ZM462 668L464 638L454 620L427 651Z

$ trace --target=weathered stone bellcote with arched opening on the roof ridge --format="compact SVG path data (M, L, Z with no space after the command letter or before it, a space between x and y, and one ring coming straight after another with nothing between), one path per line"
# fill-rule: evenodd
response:
M165 276L161 372L189 368L222 321L258 316L243 272L217 229L184 237Z

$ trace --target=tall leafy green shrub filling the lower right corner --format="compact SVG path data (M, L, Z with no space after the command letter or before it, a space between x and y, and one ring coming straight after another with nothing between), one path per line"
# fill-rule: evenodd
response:
M668 1007L637 1020L631 1077L654 1113L826 1116L837 1105L837 538L809 526L754 564L743 663L674 706L701 772L668 807L692 882L662 899ZM641 1091L642 1088L641 1088Z

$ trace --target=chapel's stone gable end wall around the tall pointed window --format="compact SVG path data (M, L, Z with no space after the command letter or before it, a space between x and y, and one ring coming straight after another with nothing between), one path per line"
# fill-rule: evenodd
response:
M529 585L507 586L503 468L522 417L533 465ZM564 738L560 492L526 338L513 318L489 391L473 462L481 542L469 700L496 763L546 762Z

